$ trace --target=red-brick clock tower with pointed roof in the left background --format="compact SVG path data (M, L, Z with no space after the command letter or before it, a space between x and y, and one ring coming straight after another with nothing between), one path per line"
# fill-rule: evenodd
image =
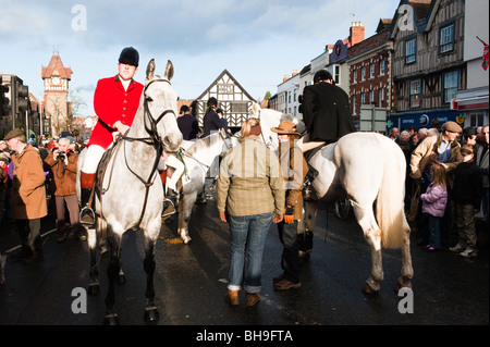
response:
M48 66L41 66L45 85L45 114L50 120L51 136L58 137L61 132L69 131L70 104L68 102L69 82L72 70L64 67L58 52L51 57Z

